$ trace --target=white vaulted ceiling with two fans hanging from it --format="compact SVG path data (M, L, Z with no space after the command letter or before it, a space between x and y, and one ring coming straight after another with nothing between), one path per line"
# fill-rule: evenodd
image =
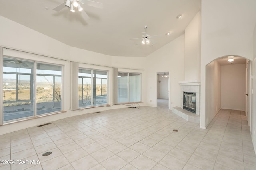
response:
M72 47L111 56L145 57L184 34L201 8L201 0L95 0L104 9L83 6L90 17L84 20L69 8L52 10L64 1L1 0L0 15ZM182 14L179 20L178 14ZM130 40L142 37L145 25L149 35L162 35L151 39L154 45ZM171 35L166 36L167 32Z

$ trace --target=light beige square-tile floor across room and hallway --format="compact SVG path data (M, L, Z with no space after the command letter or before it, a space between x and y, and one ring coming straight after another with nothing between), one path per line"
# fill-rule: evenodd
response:
M242 111L222 109L200 129L166 107L113 109L1 135L0 160L25 163L0 169L256 170L249 129Z

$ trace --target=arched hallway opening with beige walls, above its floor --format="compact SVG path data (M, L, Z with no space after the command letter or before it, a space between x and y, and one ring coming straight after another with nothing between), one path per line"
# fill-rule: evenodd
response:
M228 61L233 59L233 61ZM209 125L222 110L242 111L250 125L250 61L223 56L206 65L205 120Z

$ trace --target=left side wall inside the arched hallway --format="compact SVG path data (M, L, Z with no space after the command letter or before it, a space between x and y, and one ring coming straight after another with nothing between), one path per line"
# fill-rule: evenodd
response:
M206 123L214 118L220 110L221 67L215 60L206 66ZM202 115L202 113L201 113Z

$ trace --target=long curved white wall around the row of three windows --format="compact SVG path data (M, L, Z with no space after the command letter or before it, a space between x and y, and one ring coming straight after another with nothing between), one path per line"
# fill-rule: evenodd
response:
M142 75L143 75L142 87L143 89L146 89L145 88L146 83L144 83L146 76L144 75L145 73L143 71L145 70L145 57L131 57L131 58L130 57L122 57L122 58L112 57L112 56L108 56L100 53L95 53L92 51L87 51L84 49L70 47L64 43L61 43L55 39L52 39L46 35L43 35L42 33L38 33L28 27L20 25L19 23L8 20L7 18L4 18L2 16L0 16L0 23L1 23L0 46L2 47L8 47L8 48L17 49L20 51L46 55L46 56L54 57L58 59L65 59L68 61L88 63L90 64L88 65L88 67L92 69L102 68L100 66L97 66L97 65L101 65L101 66L107 66L108 68L109 67L129 68L130 72L137 72L136 70L130 69L130 68L136 68L136 69L139 69L140 72L142 72ZM48 61L47 57L42 57L42 56L39 56L39 57L45 58L45 61ZM66 64L65 72L64 72L65 90L63 94L66 98L65 100L65 108L67 108L65 109L66 112L59 113L56 115L49 115L46 117L40 117L38 119L32 119L32 120L27 120L23 122L2 125L0 126L0 135L4 133L9 133L12 131L24 129L27 127L41 125L44 123L48 123L51 121L55 121L58 119L62 119L62 118L66 118L74 115L81 115L85 113L93 113L96 111L104 111L108 109L127 107L123 105L116 105L112 107L96 107L91 109L84 109L83 111L78 111L78 110L70 111L70 68L69 68L68 61L66 61L66 63L68 64ZM111 80L111 75L110 75L110 80ZM110 89L109 95L112 96L113 94L112 84L109 84L108 88ZM142 92L142 94L146 96L146 92ZM142 96L142 100L143 98L144 97ZM113 98L110 98L110 104L112 103L113 103ZM140 103L140 106L144 106L144 105L145 103Z

